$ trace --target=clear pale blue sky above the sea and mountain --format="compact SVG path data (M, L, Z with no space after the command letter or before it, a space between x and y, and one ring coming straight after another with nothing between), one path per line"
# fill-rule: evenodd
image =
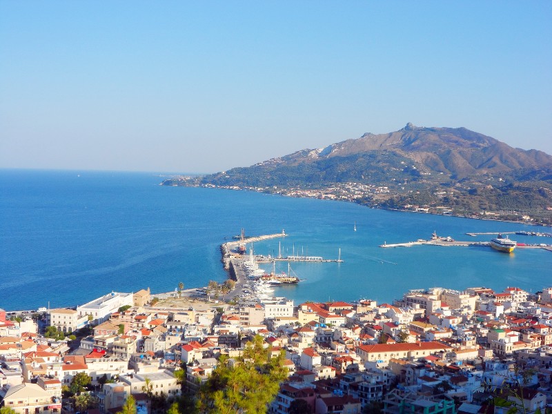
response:
M552 2L0 0L0 167L215 172L464 126L552 154Z

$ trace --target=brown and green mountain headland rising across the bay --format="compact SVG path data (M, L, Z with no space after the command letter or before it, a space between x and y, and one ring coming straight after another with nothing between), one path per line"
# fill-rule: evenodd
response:
M410 123L395 132L366 133L191 181L164 182L278 193L351 183L388 188L388 193L376 196L368 191L355 197L355 201L384 208L444 205L462 215L509 210L544 217L546 222L552 215L551 155L512 148L466 128Z

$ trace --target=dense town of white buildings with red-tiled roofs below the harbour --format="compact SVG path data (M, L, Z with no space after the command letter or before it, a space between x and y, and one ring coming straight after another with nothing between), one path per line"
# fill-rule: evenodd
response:
M46 310L38 322L0 310L0 406L17 413L78 411L62 393L82 375L90 414L117 413L128 395L138 413L164 412L159 400L197 390L255 335L273 355L284 350L289 371L269 413L299 400L315 414L552 406L552 288L411 290L393 304L169 300L148 289ZM76 348L43 336L47 326L90 335Z

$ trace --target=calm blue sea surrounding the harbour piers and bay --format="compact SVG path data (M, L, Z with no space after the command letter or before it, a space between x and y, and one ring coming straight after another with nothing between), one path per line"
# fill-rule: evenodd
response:
M152 172L0 170L0 308L84 304L115 292L152 294L223 282L220 245L239 235L281 233L253 246L259 255L322 256L343 262L293 263L302 282L277 288L295 300L391 302L409 289L552 286L552 252L517 248L381 244L428 239L469 242L550 228L379 210L346 201L301 199L214 188L160 186ZM355 231L356 226L356 231ZM524 243L549 237L511 235ZM248 246L250 248L250 246ZM265 265L271 270L271 265ZM277 271L287 271L279 264Z

